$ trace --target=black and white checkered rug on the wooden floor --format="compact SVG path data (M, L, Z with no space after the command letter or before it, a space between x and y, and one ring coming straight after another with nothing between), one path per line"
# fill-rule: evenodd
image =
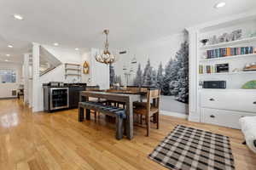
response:
M182 125L177 125L149 158L177 170L235 169L229 137Z

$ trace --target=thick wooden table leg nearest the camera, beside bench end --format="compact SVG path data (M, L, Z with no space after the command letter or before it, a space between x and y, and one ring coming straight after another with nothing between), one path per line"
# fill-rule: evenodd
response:
M126 120L125 120L125 126L126 126L126 136L128 139L133 138L133 104L131 99L125 102L126 105Z

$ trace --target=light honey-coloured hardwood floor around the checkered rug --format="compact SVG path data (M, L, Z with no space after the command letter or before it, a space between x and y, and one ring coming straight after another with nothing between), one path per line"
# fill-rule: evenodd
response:
M103 116L78 122L77 110L32 114L17 99L0 100L0 169L166 169L148 154L177 124L230 136L236 169L256 169L239 130L160 116L160 130L152 128L150 137L135 127L134 139L118 141Z

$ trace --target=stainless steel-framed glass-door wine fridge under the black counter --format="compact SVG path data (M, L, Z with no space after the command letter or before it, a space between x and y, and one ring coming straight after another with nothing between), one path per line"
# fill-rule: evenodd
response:
M49 91L50 111L69 107L68 88L50 88Z

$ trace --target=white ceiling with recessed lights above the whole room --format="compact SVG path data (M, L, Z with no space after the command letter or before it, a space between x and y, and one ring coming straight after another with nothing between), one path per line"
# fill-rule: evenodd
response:
M1 0L0 60L21 61L31 42L64 48L102 47L110 29L110 48L126 48L170 36L184 27L238 14L256 0ZM14 20L21 14L24 20ZM11 43L14 48L7 48Z

